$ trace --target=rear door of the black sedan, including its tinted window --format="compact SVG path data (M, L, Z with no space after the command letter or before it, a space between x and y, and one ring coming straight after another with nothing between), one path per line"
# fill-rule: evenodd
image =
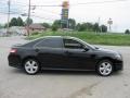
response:
M43 68L60 68L63 63L62 37L46 38L35 46L37 58Z

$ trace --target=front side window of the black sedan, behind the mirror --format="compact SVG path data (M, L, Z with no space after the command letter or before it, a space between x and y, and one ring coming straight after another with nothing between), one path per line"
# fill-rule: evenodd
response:
M83 45L73 39L64 39L64 47L70 49L82 49Z

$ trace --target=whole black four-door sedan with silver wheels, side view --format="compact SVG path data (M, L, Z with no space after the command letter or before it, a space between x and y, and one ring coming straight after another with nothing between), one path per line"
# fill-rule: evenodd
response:
M32 75L40 70L96 71L108 76L122 70L120 53L93 47L75 37L47 36L13 46L9 65Z

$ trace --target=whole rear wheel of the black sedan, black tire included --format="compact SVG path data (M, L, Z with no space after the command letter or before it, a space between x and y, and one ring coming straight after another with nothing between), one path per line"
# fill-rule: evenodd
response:
M37 60L35 59L27 59L24 62L24 70L27 74L34 75L37 74L40 70L40 64Z

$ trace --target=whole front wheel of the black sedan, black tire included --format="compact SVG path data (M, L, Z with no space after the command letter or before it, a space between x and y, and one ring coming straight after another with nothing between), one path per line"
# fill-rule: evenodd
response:
M113 62L109 60L102 60L96 66L96 72L101 76L109 76L114 71Z

